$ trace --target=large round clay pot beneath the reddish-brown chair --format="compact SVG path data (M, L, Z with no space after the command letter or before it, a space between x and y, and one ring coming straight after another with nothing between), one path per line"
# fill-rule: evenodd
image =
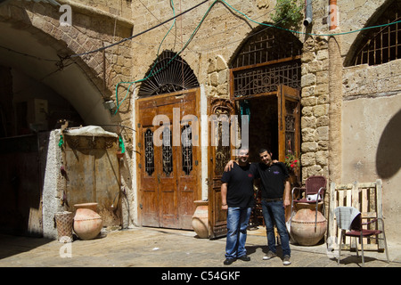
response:
M309 208L301 208L291 219L291 238L302 246L314 246L322 240L327 230L327 220L321 212L317 211L317 223L315 226L316 211Z

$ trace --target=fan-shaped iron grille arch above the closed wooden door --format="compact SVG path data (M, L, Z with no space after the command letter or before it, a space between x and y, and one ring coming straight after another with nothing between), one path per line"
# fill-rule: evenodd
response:
M139 89L139 96L168 94L199 87L191 67L176 53L164 51L151 64Z

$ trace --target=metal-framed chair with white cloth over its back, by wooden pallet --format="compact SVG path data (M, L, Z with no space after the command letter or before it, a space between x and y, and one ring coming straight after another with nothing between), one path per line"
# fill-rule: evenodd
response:
M382 218L373 218L372 221L362 223L361 213L353 207L338 207L334 209L334 214L337 220L337 226L340 228L340 246L339 246L339 259L338 264L340 265L341 257L341 243L343 236L359 238L361 242L362 251L362 265L364 266L364 238L384 240L384 248L386 250L387 262L389 263L389 251L387 249L386 234L384 232L384 221ZM367 219L367 218L366 218ZM381 221L381 230L365 230L363 225L373 224ZM348 232L347 232L348 231ZM383 234L382 238L379 238L379 234ZM372 237L374 236L374 237ZM356 256L358 256L358 246L356 244Z

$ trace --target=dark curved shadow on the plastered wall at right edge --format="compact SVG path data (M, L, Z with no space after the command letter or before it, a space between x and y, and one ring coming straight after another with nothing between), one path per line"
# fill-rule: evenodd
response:
M381 134L376 153L376 171L381 178L391 178L401 167L401 110L389 120Z

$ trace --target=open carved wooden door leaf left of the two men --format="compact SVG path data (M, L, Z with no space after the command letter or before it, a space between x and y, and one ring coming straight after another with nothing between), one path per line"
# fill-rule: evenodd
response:
M209 100L209 117L217 116L219 120L230 118L234 112L233 102L226 99ZM215 136L217 134L217 136ZM215 140L216 139L216 140ZM209 123L209 237L216 239L227 233L226 211L221 209L221 177L226 163L231 159L230 146L222 143L222 123L217 124L217 133Z

